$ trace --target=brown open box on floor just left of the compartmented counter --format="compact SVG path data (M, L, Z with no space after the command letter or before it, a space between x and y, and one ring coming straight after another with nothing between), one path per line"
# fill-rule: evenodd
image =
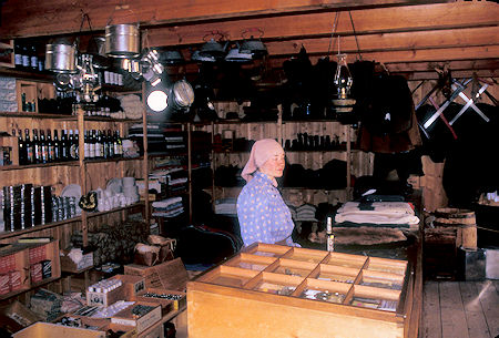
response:
M170 290L185 290L189 279L187 270L181 258L155 266L129 264L124 266L124 274L144 277L146 288L154 287Z

